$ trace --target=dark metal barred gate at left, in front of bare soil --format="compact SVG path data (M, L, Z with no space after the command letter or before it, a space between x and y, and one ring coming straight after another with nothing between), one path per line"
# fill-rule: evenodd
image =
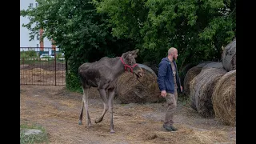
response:
M20 47L20 84L64 86L66 60L56 47Z

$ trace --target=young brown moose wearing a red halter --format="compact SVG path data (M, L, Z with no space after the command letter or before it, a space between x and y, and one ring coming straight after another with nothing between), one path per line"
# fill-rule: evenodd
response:
M136 64L138 50L123 53L121 57L101 58L98 62L86 62L78 68L78 74L82 82L82 110L79 117L79 125L82 125L83 107L86 109L86 122L90 127L90 116L88 112L88 91L91 86L97 87L104 104L102 115L95 120L95 123L102 122L107 110L110 110L110 133L114 133L113 124L113 98L118 77L125 71L129 71L136 78L143 76L144 72Z

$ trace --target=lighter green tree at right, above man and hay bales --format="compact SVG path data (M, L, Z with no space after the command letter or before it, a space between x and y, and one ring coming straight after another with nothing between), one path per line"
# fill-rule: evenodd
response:
M177 47L178 65L217 61L222 46L235 36L235 0L94 0L98 13L108 14L112 33L131 38L146 61L159 62ZM182 66L181 66L182 67Z

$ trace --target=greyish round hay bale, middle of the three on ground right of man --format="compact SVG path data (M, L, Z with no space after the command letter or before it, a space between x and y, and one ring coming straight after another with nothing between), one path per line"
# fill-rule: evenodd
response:
M211 102L214 86L225 69L207 68L202 70L190 83L190 106L197 110L204 118L214 116L213 104Z

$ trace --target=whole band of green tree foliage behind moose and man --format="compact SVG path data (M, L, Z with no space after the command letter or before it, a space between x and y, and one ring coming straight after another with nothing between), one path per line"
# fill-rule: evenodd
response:
M158 64L170 46L178 66L221 59L235 37L236 0L37 0L21 10L30 38L44 30L68 60L67 86L78 87L83 62L138 48L138 62ZM77 83L77 84L75 84Z

